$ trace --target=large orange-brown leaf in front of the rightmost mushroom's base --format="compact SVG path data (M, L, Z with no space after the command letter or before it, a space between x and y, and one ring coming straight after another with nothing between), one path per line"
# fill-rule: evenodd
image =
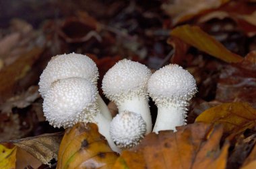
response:
M220 125L194 123L177 132L150 133L134 149L123 151L114 168L225 168L228 143L220 149Z

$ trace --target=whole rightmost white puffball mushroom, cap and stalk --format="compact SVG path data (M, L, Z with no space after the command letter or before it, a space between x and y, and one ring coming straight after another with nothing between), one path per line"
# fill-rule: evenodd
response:
M166 65L148 81L150 97L158 106L158 115L153 132L174 130L185 125L189 100L197 92L196 81L187 70L179 65Z

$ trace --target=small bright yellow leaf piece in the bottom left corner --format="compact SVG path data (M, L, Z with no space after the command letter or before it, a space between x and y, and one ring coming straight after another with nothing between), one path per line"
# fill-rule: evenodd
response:
M11 169L15 168L17 147L5 147L0 144L0 168Z

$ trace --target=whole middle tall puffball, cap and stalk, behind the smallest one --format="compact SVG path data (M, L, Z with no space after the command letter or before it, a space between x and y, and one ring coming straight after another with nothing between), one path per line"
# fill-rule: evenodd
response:
M146 122L146 133L152 131L147 92L150 75L152 73L145 65L123 59L111 67L102 80L103 93L117 104L119 112L128 110L141 114Z

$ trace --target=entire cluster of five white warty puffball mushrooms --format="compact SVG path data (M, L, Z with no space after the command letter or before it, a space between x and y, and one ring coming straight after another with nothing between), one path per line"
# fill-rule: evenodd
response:
M197 92L193 75L179 65L167 65L151 73L141 63L123 59L102 79L106 98L119 113L113 118L98 94L98 68L86 55L57 55L40 75L46 120L54 127L96 123L110 147L117 152L137 145L152 132L149 96L158 106L153 132L185 125L189 100Z

